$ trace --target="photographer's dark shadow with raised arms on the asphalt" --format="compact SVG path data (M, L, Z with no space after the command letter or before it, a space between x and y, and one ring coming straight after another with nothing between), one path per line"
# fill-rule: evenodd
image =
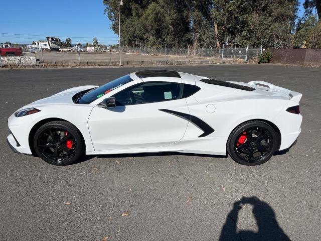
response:
M256 220L258 231L239 230L237 221L239 211L244 204L253 206L253 215ZM233 209L229 212L226 222L222 228L220 241L227 240L290 240L279 226L273 209L266 202L259 200L257 197L243 197L241 200L234 202Z

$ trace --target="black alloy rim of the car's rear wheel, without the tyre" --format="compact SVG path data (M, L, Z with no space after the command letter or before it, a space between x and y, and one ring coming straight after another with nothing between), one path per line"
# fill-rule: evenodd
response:
M249 163L261 161L269 155L272 147L272 135L263 127L245 129L234 143L234 149L238 157Z

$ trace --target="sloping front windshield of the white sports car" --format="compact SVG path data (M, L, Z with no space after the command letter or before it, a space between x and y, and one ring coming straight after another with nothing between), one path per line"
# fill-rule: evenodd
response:
M109 93L110 91L129 83L132 79L129 77L129 74L122 76L118 79L115 79L107 84L101 85L87 93L85 93L81 98L78 100L79 104L89 104L95 99L100 98L101 96Z

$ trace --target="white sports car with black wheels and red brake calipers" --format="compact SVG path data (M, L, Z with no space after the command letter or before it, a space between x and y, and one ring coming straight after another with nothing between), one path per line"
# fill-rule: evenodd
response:
M16 153L53 165L85 154L148 152L229 153L259 165L295 143L301 97L263 81L144 70L22 107L9 117L7 141Z

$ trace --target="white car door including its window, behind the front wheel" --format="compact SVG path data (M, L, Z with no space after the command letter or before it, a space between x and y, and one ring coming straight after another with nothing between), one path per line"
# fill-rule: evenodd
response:
M181 83L143 82L114 94L115 108L95 106L88 119L95 151L178 142L185 134L188 120L170 111L189 113L181 96Z

